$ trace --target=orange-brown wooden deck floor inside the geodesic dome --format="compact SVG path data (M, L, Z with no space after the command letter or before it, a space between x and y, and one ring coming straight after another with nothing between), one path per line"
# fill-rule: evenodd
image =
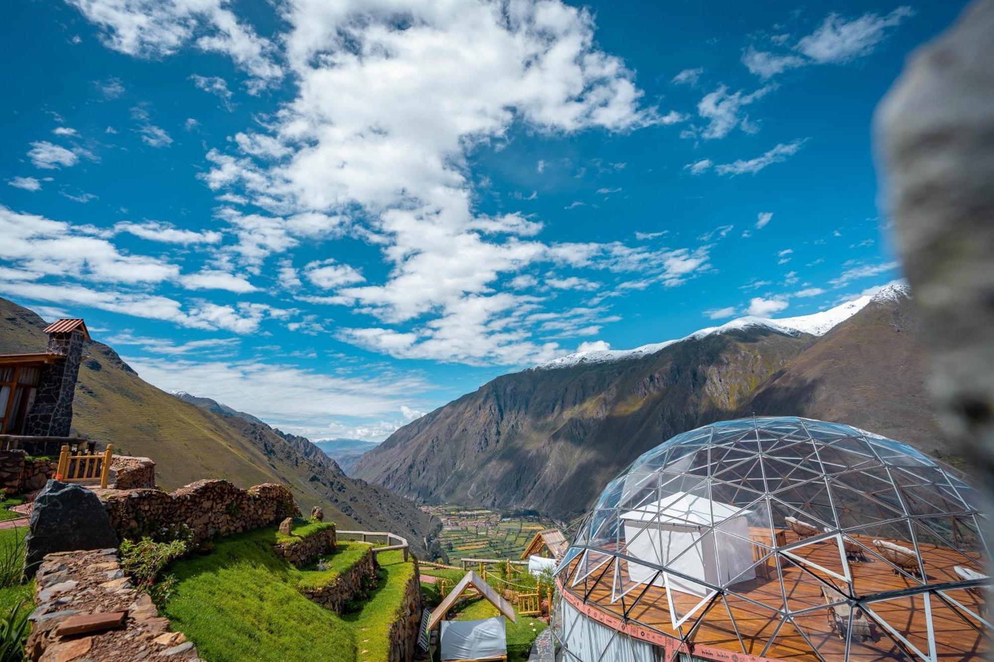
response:
M780 539L781 545L784 536L786 544L798 540L792 532L785 532L785 534L777 532L777 538ZM862 537L855 537L855 539L869 550L875 549L872 539ZM908 545L907 542L894 542ZM952 549L931 545L919 545L919 547L925 562L928 583L957 581L959 578L953 571L954 566L969 567L983 572L976 559L968 559ZM756 552L759 550L759 548L754 549ZM796 549L794 554L812 564L844 575L836 544L814 543ZM756 558L761 559L761 556L757 554ZM868 560L866 563L850 561L848 564L859 594L868 595L920 585L917 579L895 575L890 565L873 555L868 553L866 558ZM781 561L783 561L782 557ZM575 567L577 563L579 560L575 561L573 566ZM571 590L580 598L585 590L589 590L588 604L596 604L606 613L618 617L623 616L623 609L629 607L638 595L642 594L641 600L628 614L630 619L668 636L679 638L681 634L689 633L689 627L695 623L700 611L694 612L687 619L686 623L681 626L681 631L675 631L671 624L665 588L661 585L648 587L644 584L636 585L628 579L627 562L615 559L613 563L620 563L622 589L631 588L631 591L623 598L611 602L613 567L607 568L605 566L595 571L589 578L580 581ZM831 629L832 619L825 606L826 602L821 591L822 584L801 571L800 564L784 562L781 572L777 573L777 563L779 562L771 557L763 565L764 568L758 569L755 579L748 579L729 586L731 590L735 590L743 597L732 594L724 597L719 596L710 606L706 605L707 614L689 640L696 645L759 656L766 643L772 639L773 643L764 655L766 658L815 660L817 657L811 652L812 648L815 648L826 659L844 659L846 644L844 639ZM807 566L805 564L805 567ZM603 572L605 569L606 572ZM811 568L811 570L819 577L832 580L840 588L846 588L843 581L832 579L817 569ZM782 594L779 586L780 577L783 579ZM598 578L599 580L597 580ZM662 583L661 580L659 582ZM970 591L956 589L945 592L974 613L980 613L980 600ZM696 595L677 590L672 591L672 593L678 621L681 616L693 610L702 599ZM786 596L786 603L784 603L783 595ZM890 623L911 644L927 654L925 599L925 594L917 594L875 602L868 606L881 619ZM950 608L934 594L930 595L928 600L934 624L937 659L948 661L983 659L988 650L986 638L983 635L985 627L983 623L968 614L959 615L958 610ZM815 607L815 609L804 614L794 615L793 622L787 620L781 623L782 616L779 616L773 609L783 610L784 607L790 611L811 607ZM704 608L705 606L701 607L701 609ZM730 613L738 625L738 635L730 619ZM870 660L882 659L907 659L907 656L894 644L893 640L884 634L880 625L873 623L872 632L872 638L867 641L861 642L856 637L853 638L849 652L851 660L869 662ZM805 640L805 636L807 640ZM701 654L701 652L696 652L696 654Z

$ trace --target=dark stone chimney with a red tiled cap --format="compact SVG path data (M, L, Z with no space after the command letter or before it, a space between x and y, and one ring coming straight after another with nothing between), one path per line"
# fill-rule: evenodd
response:
M89 332L82 319L61 319L45 332L49 334L49 354L60 358L42 369L34 403L24 420L24 434L69 436L76 380Z

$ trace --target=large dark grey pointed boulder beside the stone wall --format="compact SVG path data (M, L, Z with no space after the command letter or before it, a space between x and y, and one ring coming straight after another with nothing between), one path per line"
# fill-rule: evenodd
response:
M116 548L117 534L103 504L80 485L50 480L35 498L24 539L24 576L34 577L46 554Z

